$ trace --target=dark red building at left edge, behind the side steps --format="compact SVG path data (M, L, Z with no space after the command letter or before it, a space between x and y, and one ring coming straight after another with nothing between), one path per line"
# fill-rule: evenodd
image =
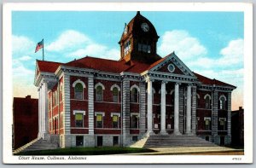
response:
M38 99L15 97L13 108L13 148L38 137Z

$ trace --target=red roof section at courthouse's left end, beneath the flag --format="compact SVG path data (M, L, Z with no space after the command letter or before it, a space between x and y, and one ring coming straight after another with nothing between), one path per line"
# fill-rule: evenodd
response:
M61 62L53 61L40 61L37 60L40 72L55 72L56 69L61 66Z

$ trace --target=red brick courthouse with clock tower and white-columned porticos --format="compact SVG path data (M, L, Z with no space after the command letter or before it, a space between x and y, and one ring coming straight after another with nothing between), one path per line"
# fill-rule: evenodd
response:
M62 148L127 146L154 134L230 144L236 87L192 72L174 52L161 58L158 38L137 12L122 32L119 61L37 61L38 136L60 135Z

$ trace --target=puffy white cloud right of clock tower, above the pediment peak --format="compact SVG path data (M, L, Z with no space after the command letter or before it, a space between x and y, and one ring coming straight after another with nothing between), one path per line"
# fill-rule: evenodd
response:
M165 32L160 43L159 53L166 56L172 51L177 55L182 55L183 60L189 60L195 56L207 55L207 49L197 38L192 37L189 32L183 30L173 30Z

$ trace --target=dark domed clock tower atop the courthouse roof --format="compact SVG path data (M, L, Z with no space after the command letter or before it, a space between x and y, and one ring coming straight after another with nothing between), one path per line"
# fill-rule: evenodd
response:
M156 44L160 38L152 23L140 12L128 23L119 41L120 60L140 61L151 64L161 59L156 54Z

